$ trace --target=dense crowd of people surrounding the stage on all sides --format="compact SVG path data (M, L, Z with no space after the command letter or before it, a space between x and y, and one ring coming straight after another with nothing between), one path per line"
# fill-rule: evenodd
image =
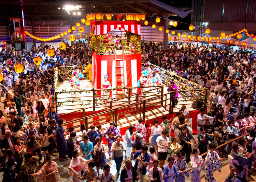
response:
M138 120L125 133L120 133L114 122L105 131L100 125L88 126L86 131L81 124L79 141L74 127L63 129L63 120L55 112L54 68L89 65L91 50L89 45L77 42L67 45L66 50L57 48L49 57L49 48L55 50L46 44L32 47L29 53L12 49L0 52L1 103L5 110L0 111L3 181L60 181L57 163L52 161L57 155L59 161L70 160L66 170L74 182L144 182L145 178L185 182L188 177L199 182L202 170L205 181L214 182L213 169L221 171L221 161L227 154L232 166L227 182L248 179L256 169L256 59L252 52L171 43L163 51L162 44L142 43L142 62L147 67L140 78L142 86L144 79L148 85L161 84L159 69L151 70L154 64L209 89L209 107L201 108L196 119L198 136L192 135L184 105L176 117L162 116L153 124ZM42 58L41 66L34 65L35 56ZM17 63L24 66L20 74L14 68ZM170 83L168 89L177 90L177 86ZM171 137L172 131L175 137ZM116 164L115 176L110 172L110 160Z

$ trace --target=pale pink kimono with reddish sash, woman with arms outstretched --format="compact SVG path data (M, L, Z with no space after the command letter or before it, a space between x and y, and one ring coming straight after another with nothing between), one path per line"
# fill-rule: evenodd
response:
M86 160L81 156L77 158L72 157L72 160L69 164L69 167L71 167L71 169L68 169L68 173L72 174L73 182L81 182L81 180L78 179L77 177L81 177L81 168L83 168L83 171L85 171L88 168L88 162L89 160Z

